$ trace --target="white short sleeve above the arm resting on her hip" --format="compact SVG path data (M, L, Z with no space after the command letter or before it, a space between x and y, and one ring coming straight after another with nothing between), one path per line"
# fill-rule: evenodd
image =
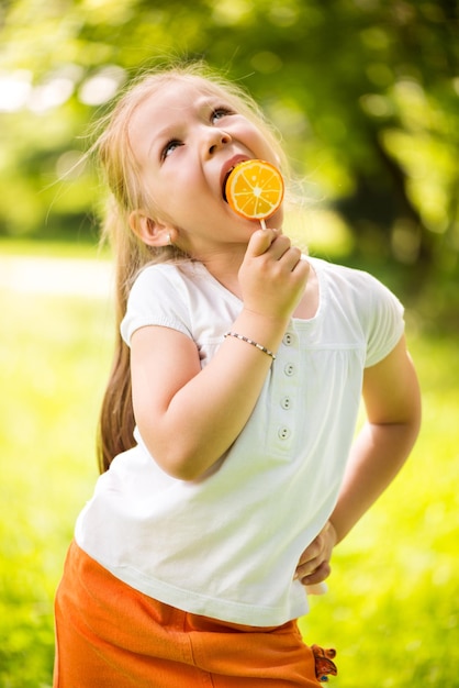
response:
M399 299L374 277L367 275L369 308L367 311L367 355L365 367L385 358L405 328L404 308Z

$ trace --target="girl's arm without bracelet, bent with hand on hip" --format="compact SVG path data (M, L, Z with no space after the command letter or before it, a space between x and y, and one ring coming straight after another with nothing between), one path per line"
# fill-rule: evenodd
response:
M352 446L336 508L296 569L304 585L329 575L333 547L392 482L416 441L421 395L404 337L389 356L365 370L363 401L367 422Z

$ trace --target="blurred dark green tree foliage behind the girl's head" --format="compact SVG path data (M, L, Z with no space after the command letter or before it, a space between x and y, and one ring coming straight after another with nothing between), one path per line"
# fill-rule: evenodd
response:
M454 0L3 0L0 235L93 241L98 180L75 167L90 121L139 69L203 57L283 133L344 259L391 265L427 320L440 304L459 326L458 16Z

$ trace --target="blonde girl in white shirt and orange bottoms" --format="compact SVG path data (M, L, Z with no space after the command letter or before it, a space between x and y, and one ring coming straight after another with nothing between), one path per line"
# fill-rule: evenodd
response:
M57 591L54 686L318 686L336 672L300 637L305 586L418 432L402 307L302 256L282 209L266 230L231 210L237 163L287 168L256 106L215 76L143 78L97 146L121 336L104 473Z

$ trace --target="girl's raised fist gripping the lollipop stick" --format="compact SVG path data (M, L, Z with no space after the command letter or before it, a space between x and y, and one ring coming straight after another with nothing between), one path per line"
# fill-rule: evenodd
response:
M288 320L307 281L310 264L277 230L254 232L239 269L244 306L259 315Z

